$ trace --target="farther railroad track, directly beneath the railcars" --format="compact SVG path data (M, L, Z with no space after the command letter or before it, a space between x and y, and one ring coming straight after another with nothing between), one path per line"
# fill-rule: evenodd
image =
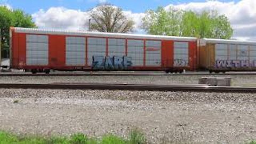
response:
M52 73L52 74L30 74L30 73L0 73L0 76L226 76L226 75L256 75L256 73Z

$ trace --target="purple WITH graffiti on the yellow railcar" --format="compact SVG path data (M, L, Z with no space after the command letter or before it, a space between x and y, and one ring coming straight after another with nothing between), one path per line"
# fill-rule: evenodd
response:
M215 67L217 68L246 68L256 67L256 60L216 60Z

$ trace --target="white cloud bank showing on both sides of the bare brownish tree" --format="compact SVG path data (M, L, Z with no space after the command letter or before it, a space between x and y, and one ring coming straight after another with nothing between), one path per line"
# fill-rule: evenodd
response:
M89 13L80 10L70 10L65 7L51 7L49 10L39 10L32 15L39 28L58 28L68 30L87 30ZM134 20L135 29L139 30L144 13L124 11L124 14ZM136 32L136 31L135 31Z

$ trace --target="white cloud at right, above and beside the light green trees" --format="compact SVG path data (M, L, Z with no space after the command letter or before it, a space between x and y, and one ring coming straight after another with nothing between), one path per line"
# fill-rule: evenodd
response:
M183 3L168 5L176 9L202 12L203 10L217 10L229 18L234 28L234 38L256 39L256 1L242 0L235 2L206 1L201 3Z

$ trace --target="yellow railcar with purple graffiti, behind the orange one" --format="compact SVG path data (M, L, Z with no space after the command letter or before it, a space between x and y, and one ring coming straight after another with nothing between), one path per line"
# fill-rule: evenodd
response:
M210 71L256 70L256 43L202 39L200 65ZM205 46L205 47L204 47Z

